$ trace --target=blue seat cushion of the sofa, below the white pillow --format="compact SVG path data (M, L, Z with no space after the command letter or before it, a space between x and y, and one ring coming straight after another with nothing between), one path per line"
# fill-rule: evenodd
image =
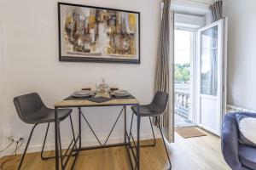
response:
M246 144L239 144L239 159L243 166L256 170L256 148Z

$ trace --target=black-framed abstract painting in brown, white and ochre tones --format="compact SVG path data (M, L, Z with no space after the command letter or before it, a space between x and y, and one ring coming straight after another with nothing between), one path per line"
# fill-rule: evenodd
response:
M61 61L140 63L140 14L58 3Z

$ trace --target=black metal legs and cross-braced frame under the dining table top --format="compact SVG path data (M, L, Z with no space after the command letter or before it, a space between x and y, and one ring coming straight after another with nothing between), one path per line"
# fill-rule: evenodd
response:
M131 104L131 105L135 105L135 104ZM112 105L113 106L113 105ZM136 105L137 106L137 112L139 113L139 105ZM127 117L126 117L126 105L123 105L123 108L122 110L119 112L119 116L121 115L122 111L124 111L125 113L125 117L124 117L124 124L125 124L125 136L124 136L124 140L125 142L124 143L121 143L121 144L107 144L108 142L108 138L109 136L111 135L112 131L113 131L113 128L115 127L116 123L118 122L119 120L119 116L117 117L116 121L114 122L113 124L113 127L110 131L110 133L108 134L108 138L107 140L105 141L105 143L100 146L91 146L91 147L82 147L82 127L81 127L81 123L82 123L82 116L84 117L84 120L85 122L87 122L87 124L89 125L90 127L90 124L89 122L86 120L83 112L81 111L81 107L80 106L77 106L78 109L79 109L79 136L77 137L77 139L74 139L74 133L73 133L73 141L72 143L70 144L70 146L68 147L68 149L71 147L71 153L67 156L67 153L65 153L64 156L62 156L60 150L61 150L61 137L60 137L60 130L59 130L59 124L58 124L58 107L56 106L55 107L55 170L59 170L60 168L61 169L65 169L67 167L67 162L69 161L69 158L70 156L72 156L72 152L76 152L76 154L74 155L75 156L75 160L73 161L73 165L72 165L72 168L74 168L74 164L77 160L77 157L79 155L79 151L80 150L95 150L95 149L101 149L101 148L108 148L108 147L118 147L118 146L125 146L127 152L128 152L128 156L129 156L129 159L130 159L130 162L131 162L131 168L132 169L140 169L140 122L141 122L141 117L139 116L138 114L138 119L137 119L137 145L136 145L136 153L131 149L131 142L130 142L130 137L131 137L131 134L128 135L128 132L127 132ZM133 116L133 115L132 115ZM70 117L70 121L72 122L72 118ZM132 125L132 124L131 124ZM73 123L72 123L72 128L73 128ZM93 131L93 129L90 127L90 129ZM130 132L131 133L131 132ZM129 140L128 140L129 139ZM128 141L127 141L128 140ZM73 144L74 142L74 144ZM79 148L77 148L76 144L77 142L79 142ZM73 146L72 146L73 144ZM132 156L134 157L134 161L136 163L135 167L132 165L132 161L131 161L131 156L130 156L130 153L129 153L129 148L131 149L132 151ZM61 156L60 156L61 154ZM65 161L65 163L63 162L62 160L62 157L65 157L67 156L67 160ZM60 157L61 157L61 167L60 167Z

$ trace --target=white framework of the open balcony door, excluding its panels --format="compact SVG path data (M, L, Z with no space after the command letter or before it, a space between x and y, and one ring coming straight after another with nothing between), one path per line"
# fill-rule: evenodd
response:
M201 34L200 31L205 31L213 26L220 26L222 29L218 29L218 81L222 81L222 83L218 83L218 95L216 98L218 99L218 120L217 131L212 130L211 128L207 128L204 125L201 124L201 95L207 96L206 94L201 94ZM227 82L227 18L224 18L222 20L218 20L216 22L213 22L212 24L209 24L207 26L203 26L197 31L197 46L196 46L196 57L195 57L195 109L196 109L196 124L199 127L202 127L206 129L207 131L211 133L215 133L218 136L221 135L221 122L224 116L225 108L226 108L226 82ZM218 97L220 96L220 97ZM209 98L212 98L212 96L207 96Z

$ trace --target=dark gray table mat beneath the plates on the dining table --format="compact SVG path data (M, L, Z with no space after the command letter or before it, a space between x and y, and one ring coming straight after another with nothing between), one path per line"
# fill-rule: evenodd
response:
M90 101L93 101L96 103L102 103L102 102L109 101L111 99L135 99L135 97L132 96L131 94L129 94L128 96L123 96L123 97L117 97L115 95L110 95L110 98L104 98L104 97L95 98L95 95L88 96L88 97L74 97L73 95L71 95L64 100L83 100L83 99L87 99L87 100L90 100Z

